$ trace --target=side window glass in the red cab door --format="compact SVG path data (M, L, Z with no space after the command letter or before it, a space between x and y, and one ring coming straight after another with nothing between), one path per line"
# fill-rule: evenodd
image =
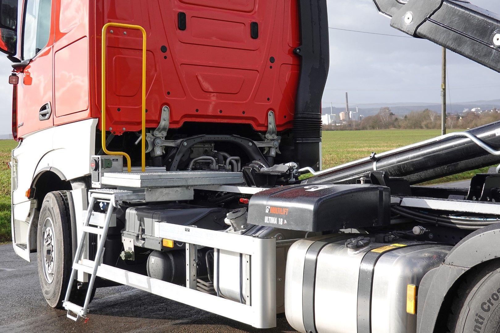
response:
M22 30L22 58L33 58L47 45L50 34L51 0L26 0Z

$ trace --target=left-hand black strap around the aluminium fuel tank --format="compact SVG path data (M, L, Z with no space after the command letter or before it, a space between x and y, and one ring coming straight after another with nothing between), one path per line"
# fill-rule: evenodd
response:
M314 282L316 281L317 257L321 250L328 244L336 241L345 241L352 235L344 234L325 238L311 244L307 249L304 259L304 273L302 285L302 320L307 333L317 333L314 319Z

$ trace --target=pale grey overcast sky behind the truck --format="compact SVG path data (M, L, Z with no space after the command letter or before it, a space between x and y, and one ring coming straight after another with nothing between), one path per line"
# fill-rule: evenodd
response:
M327 0L331 28L405 36L391 28L371 0ZM470 2L500 13L498 0ZM323 105L439 102L441 48L427 40L329 29L330 70ZM0 55L0 134L10 133L10 62ZM448 99L500 98L500 74L448 51Z

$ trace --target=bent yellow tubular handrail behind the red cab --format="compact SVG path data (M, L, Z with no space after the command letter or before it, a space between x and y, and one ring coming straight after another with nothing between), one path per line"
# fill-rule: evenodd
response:
M123 156L127 161L127 170L131 171L130 156L127 153L121 151L109 151L106 149L106 29L110 26L140 30L142 32L142 156L141 165L142 172L146 170L146 31L143 27L133 24L123 24L123 23L113 23L109 22L104 24L102 27L102 78L101 78L101 93L102 93L102 117L101 117L101 145L102 151L108 155Z

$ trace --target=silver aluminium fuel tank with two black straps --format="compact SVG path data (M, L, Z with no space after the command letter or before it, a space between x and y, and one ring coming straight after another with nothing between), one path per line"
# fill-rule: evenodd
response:
M352 234L297 241L286 261L286 319L303 333L414 333L407 286L418 291L451 248Z

